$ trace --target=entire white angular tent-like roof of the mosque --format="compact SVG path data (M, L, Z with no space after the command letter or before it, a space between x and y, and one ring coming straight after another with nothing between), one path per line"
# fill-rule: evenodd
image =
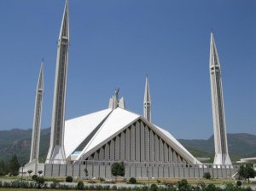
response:
M65 123L65 138L64 148L66 156L69 157L76 148L79 147L81 142L92 133L95 134L91 137L90 141L84 147L81 153L77 155L77 159L81 157L88 157L91 153L96 152L104 144L119 135L120 132L125 130L138 119L142 119L144 123L154 130L163 140L165 140L177 153L181 154L184 159L189 159L194 164L201 164L201 162L189 153L189 151L175 139L170 132L160 128L155 124L151 124L147 119L141 115L131 113L123 108L105 109L100 112L84 115L76 119L67 120ZM100 126L99 126L100 125Z

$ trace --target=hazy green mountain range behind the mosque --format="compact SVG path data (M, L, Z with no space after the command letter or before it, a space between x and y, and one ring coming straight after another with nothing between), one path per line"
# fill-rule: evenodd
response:
M49 149L50 129L41 130L39 161L44 162ZM229 153L232 161L256 156L256 136L246 133L228 134ZM20 165L29 160L32 130L0 130L0 161L7 162L17 155ZM178 139L195 157L214 158L214 137L207 140Z

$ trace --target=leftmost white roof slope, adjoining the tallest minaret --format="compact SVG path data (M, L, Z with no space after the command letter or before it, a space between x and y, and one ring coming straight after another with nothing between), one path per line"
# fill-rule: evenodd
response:
M70 119L65 122L64 148L68 157L79 147L79 144L107 118L112 109L105 109L96 113Z

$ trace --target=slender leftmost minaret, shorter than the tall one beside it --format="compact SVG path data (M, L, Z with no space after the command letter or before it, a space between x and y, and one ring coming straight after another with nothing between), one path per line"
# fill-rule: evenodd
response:
M29 159L30 163L35 162L36 164L38 164L43 95L44 95L44 60L42 61L42 64L41 64L39 77L38 77L38 86L36 90L36 101L35 101L33 129L32 129L32 142L31 142L31 151L30 151L30 159ZM37 169L35 170L35 173L37 173Z

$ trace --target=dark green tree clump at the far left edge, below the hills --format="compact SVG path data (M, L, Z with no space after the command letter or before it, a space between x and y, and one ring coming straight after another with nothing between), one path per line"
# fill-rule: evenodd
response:
M16 155L14 155L9 163L4 163L3 160L0 161L0 176L17 176L19 175L20 163Z

